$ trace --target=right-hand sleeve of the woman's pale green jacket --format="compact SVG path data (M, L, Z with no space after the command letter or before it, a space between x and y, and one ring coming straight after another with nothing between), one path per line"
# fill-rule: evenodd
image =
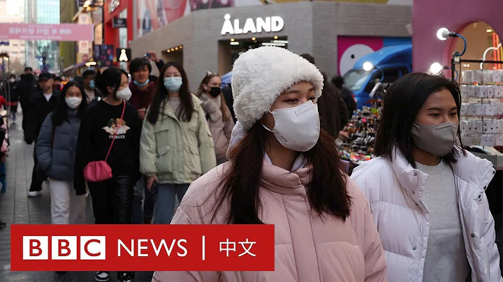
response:
M197 98L194 98L194 103L201 103ZM206 114L201 105L195 106L198 112L198 146L199 154L201 156L201 170L203 175L209 172L212 168L217 166L217 156L214 152L213 138L210 133L210 128L207 125Z

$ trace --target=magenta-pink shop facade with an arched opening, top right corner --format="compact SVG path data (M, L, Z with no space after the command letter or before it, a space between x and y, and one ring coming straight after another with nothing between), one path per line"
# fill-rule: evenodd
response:
M461 41L458 38L449 38L445 41L439 40L436 34L440 28L445 27L450 31L462 33L468 27L473 28L472 25L475 22L482 22L490 28L483 28L478 36L491 36L492 34L489 33L493 31L495 33L499 32L502 35L502 13L503 1L501 0L414 1L412 15L412 27L414 29L412 36L414 45L412 66L414 67L414 71L425 71L435 62L443 66L450 66L453 52L455 50L462 50L462 47L460 50L460 46L456 46L460 43L458 41ZM479 45L480 43L487 45L487 39L482 38L481 40L479 37L470 40L467 38L467 56L469 56L469 50L474 49L474 45ZM481 52L478 52L474 59L482 59L486 47L483 46L482 48ZM467 56L463 56L464 59ZM449 72L446 72L446 75L448 74Z

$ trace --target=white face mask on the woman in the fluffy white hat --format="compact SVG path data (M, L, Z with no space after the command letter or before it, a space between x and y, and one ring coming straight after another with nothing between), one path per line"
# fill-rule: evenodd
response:
M319 139L320 121L318 105L307 101L297 107L269 112L275 120L272 131L279 144L293 151L309 151Z

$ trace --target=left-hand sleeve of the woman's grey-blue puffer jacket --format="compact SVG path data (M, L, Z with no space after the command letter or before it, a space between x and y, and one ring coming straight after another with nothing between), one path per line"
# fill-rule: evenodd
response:
M52 118L51 114L45 118L36 142L36 156L38 165L47 172L52 165Z

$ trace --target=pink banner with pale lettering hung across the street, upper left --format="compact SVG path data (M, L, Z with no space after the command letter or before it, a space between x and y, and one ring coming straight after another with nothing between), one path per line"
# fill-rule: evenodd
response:
M0 39L92 41L92 24L0 24Z

